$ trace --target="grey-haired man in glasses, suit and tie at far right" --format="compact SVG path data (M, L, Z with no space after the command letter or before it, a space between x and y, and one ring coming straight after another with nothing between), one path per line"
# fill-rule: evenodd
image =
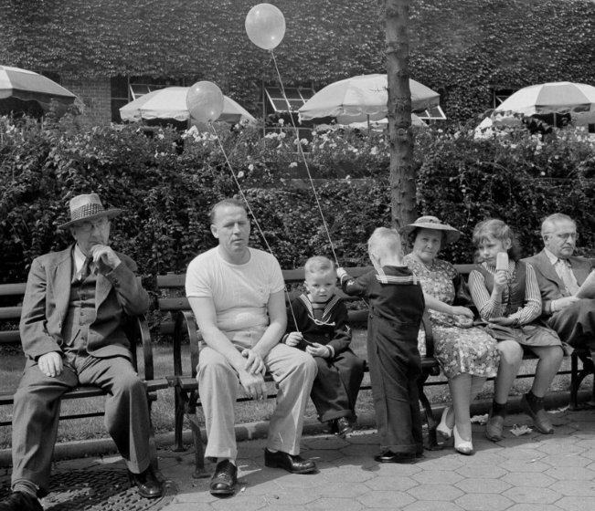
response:
M592 271L589 259L572 255L579 234L566 214L541 224L545 248L525 259L535 269L543 302L542 317L573 348L595 350L595 299L574 295Z

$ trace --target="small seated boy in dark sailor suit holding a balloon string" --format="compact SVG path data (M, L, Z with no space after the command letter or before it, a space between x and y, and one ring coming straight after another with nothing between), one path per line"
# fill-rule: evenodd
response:
M308 291L287 311L288 346L313 356L318 373L310 397L320 422L345 437L356 421L356 400L364 377L364 360L349 349L351 328L343 300L335 296L336 271L330 259L311 257L304 266Z

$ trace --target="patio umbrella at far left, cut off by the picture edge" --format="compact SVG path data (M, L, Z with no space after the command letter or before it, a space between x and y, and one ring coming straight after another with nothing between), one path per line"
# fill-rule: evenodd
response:
M63 105L71 105L77 97L67 89L42 75L26 69L0 66L0 100L21 99L37 101L44 110L56 99Z

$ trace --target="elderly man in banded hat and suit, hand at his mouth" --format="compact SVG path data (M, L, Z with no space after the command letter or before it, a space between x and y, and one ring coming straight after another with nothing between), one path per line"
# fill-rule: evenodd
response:
M95 193L74 197L69 229L76 243L31 265L20 333L27 364L13 413L13 493L0 510L41 511L48 494L60 398L78 385L108 391L105 425L143 497L163 495L150 466L145 388L133 369L122 313L142 314L149 296L136 264L109 245L110 220Z

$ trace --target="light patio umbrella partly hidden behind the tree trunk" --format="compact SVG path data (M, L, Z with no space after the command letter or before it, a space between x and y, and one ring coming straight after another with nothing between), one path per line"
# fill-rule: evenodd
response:
M439 106L440 94L410 79L411 110ZM351 124L387 117L387 75L346 78L319 90L298 110L300 120L335 117L339 124ZM369 119L368 119L369 118Z

